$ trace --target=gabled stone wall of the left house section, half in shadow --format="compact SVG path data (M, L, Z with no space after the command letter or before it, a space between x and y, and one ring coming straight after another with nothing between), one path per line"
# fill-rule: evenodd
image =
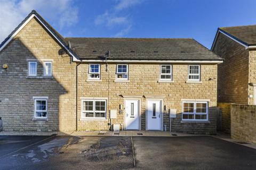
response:
M32 19L0 53L0 116L4 131L74 131L75 63L59 55L60 45ZM28 60L37 61L37 77L28 78ZM43 77L51 60L52 78ZM2 69L7 64L9 68ZM33 96L49 97L48 121L33 121Z

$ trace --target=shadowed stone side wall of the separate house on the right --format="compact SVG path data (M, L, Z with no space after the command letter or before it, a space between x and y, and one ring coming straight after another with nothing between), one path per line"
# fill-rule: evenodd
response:
M218 102L248 104L249 50L220 33L213 52L224 58L218 65Z

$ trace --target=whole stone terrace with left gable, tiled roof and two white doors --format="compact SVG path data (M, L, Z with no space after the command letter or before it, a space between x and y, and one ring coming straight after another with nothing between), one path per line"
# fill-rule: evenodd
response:
M32 11L0 45L3 128L216 133L220 63L194 39L63 38Z

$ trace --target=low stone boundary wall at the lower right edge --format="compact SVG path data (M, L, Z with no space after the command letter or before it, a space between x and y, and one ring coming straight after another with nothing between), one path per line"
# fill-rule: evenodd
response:
M231 106L231 138L256 143L256 106Z

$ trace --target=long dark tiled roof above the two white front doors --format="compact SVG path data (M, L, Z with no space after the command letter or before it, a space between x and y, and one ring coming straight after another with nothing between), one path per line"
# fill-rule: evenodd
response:
M194 39L171 38L65 38L83 60L199 60L222 58Z

